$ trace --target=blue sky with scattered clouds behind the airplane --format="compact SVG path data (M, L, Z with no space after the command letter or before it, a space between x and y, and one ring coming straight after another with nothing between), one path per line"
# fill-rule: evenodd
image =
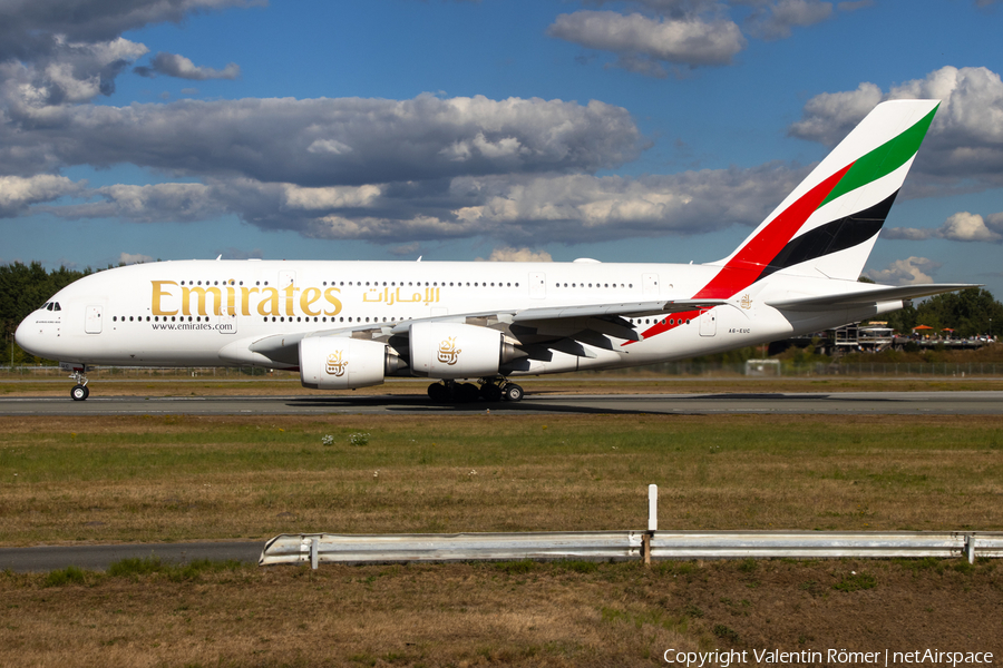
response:
M1001 28L986 0L0 0L0 263L709 262L875 104L935 96L866 273L999 296Z

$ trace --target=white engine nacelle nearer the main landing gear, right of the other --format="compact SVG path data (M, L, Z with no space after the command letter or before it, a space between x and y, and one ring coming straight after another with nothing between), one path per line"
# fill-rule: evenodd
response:
M493 376L506 362L525 357L498 330L458 323L410 327L411 373L432 379Z

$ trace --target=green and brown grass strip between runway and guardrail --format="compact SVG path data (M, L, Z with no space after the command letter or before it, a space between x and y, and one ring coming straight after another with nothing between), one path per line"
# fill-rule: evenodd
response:
M993 416L145 416L0 429L0 544L635 529L649 483L662 528L1003 527ZM360 433L364 446L351 441Z

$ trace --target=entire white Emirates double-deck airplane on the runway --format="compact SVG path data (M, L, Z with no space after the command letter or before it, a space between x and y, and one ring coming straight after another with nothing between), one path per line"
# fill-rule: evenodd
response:
M840 326L970 287L857 281L937 105L878 105L718 262L157 262L67 286L17 342L70 371L78 401L94 365L299 370L319 390L421 376L434 401L518 401L512 377Z

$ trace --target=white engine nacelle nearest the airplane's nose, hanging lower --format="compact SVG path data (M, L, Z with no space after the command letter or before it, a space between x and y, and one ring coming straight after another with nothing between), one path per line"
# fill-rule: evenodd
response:
M313 390L353 390L379 385L400 358L386 343L347 336L300 341L300 382Z

